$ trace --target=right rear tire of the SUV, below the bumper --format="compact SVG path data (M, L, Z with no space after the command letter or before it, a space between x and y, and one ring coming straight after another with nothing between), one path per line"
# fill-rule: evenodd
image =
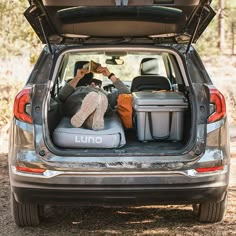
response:
M223 220L227 208L227 192L220 202L209 201L199 204L198 220L204 223L216 223Z

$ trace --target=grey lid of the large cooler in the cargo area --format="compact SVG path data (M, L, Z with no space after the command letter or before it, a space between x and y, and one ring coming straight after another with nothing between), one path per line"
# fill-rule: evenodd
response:
M133 104L138 106L183 106L188 104L181 92L140 91L133 92Z

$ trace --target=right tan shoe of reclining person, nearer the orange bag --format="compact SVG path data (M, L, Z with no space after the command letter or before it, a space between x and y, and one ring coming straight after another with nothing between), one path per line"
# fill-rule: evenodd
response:
M104 129L104 114L108 107L107 96L101 92L98 93L98 105L95 111L85 121L85 125L89 129L101 130Z

